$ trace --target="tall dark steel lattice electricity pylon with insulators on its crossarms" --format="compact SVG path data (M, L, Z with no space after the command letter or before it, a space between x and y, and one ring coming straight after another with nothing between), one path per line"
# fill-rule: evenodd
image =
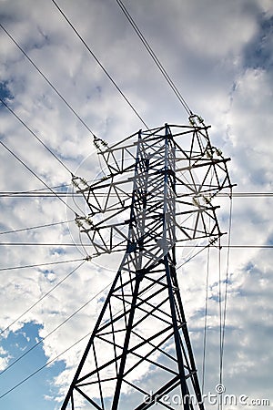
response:
M214 197L230 188L227 161L202 118L108 147L107 173L74 178L90 212L78 217L95 256L124 252L62 410L204 409L177 282L177 241L210 246L222 235ZM194 400L193 400L194 398ZM177 407L176 407L177 408Z

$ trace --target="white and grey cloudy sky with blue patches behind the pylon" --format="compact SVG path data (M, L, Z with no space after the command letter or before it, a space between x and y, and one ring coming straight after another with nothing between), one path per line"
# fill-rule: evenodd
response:
M232 159L232 247L228 272L225 246L220 270L222 288L228 273L223 383L227 394L269 399L272 406L273 3L124 3L188 106L211 124L213 145ZM187 112L115 0L57 4L89 50L52 1L0 0L0 97L10 108L1 103L5 410L59 408L86 345L79 341L92 330L113 279L107 261L85 261L88 247L70 221L83 204L66 198L71 172L92 179L99 169L92 132L111 143L145 124L187 124ZM219 198L219 205L227 231L229 200ZM204 393L214 393L219 380L218 253L210 255ZM206 260L200 254L179 271L200 379Z

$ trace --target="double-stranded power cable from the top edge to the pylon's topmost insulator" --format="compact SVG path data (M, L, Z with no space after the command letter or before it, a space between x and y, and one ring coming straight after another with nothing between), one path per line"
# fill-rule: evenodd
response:
M138 26L136 25L135 20L133 19L132 15L130 15L130 13L128 12L126 5L123 4L123 2L121 0L116 0L117 5L119 5L119 7L121 8L121 10L123 11L124 15L126 15L126 18L128 20L128 22L130 23L130 25L133 27L133 29L136 32L136 35L140 38L142 44L145 46L145 48L147 49L148 54L152 57L152 59L154 60L154 62L156 63L157 68L159 69L159 71L161 72L161 74L163 75L163 77L167 80L167 84L171 87L171 89L173 90L173 92L175 93L175 95L177 96L178 100L180 101L180 103L182 104L182 106L185 108L185 110L187 111L188 115L193 115L193 112L191 111L191 109L188 107L187 102L185 100L185 98L182 97L181 93L179 92L179 90L177 89L175 83L173 82L173 80L171 79L171 77L169 77L169 75L167 74L166 69L162 66L162 64L160 63L159 59L157 58L157 55L155 54L155 52L153 51L152 47L149 45L149 43L147 42L147 39L145 38L145 36L142 34L142 32L139 30Z

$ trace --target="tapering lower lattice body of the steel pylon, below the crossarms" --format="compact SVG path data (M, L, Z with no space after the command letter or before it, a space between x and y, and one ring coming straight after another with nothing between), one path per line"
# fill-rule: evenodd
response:
M101 410L164 406L177 388L185 410L194 408L193 395L201 401L170 253L147 270L129 271L131 260L126 253L62 410L81 403Z

